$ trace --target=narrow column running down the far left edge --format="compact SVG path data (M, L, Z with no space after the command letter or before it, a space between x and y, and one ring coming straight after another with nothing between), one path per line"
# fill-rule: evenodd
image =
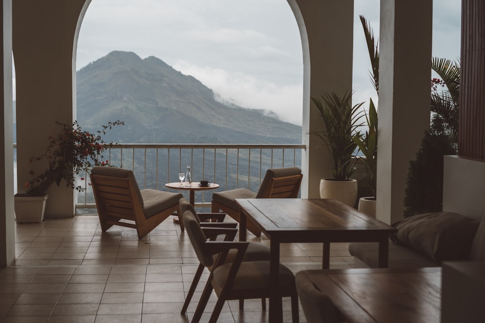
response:
M1 98L3 125L0 161L0 268L15 261L14 228L14 154L13 154L13 107L12 107L12 0L2 1L2 68Z

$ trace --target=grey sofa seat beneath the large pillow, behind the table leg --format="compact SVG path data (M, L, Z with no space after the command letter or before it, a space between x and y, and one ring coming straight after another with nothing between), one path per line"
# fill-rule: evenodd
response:
M351 243L349 244L349 253L371 268L378 267L379 244L376 242ZM436 266L439 266L439 264L421 255L416 250L406 246L398 246L389 241L389 268Z

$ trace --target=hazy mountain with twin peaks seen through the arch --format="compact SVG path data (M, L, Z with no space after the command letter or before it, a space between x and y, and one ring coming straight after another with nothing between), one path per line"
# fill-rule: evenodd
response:
M162 60L113 51L77 72L77 120L85 130L123 120L119 143L301 143L300 126L262 110L226 106L199 80Z

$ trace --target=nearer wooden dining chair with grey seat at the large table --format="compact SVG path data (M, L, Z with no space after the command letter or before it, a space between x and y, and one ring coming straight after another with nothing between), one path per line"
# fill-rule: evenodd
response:
M269 297L270 262L242 261L249 243L231 241L235 237L237 229L206 228L209 231L219 231L218 235L225 235L225 241L209 241L209 237L205 234L207 231L202 230L195 212L187 210L183 213L182 218L198 260L205 267L213 268L195 309L192 318L193 323L200 321L212 291L215 291L218 299L209 323L217 322L226 300ZM210 236L210 238L212 237ZM227 255L231 249L235 250L234 259L232 262L226 263ZM217 255L215 261L214 255ZM283 264L279 264L278 281L280 296L291 297L292 322L297 323L299 314L295 278L291 270ZM279 310L282 315L282 298L279 301Z

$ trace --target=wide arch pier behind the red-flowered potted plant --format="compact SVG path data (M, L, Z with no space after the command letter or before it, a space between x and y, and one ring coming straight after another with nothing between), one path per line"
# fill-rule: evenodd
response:
M17 189L47 168L47 162L30 163L59 133L56 121L75 118L73 50L79 19L88 0L15 1L13 48L16 65ZM33 32L35 30L35 32ZM74 191L63 181L48 192L46 217L73 217Z

